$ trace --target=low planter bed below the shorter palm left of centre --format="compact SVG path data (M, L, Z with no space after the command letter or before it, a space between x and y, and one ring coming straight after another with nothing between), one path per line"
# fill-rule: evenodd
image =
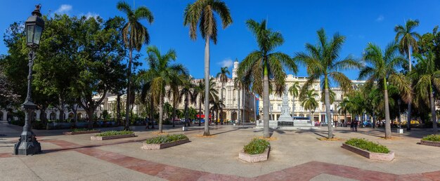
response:
M160 135L155 138L145 140L142 149L164 149L167 147L174 147L183 143L189 142L186 135Z

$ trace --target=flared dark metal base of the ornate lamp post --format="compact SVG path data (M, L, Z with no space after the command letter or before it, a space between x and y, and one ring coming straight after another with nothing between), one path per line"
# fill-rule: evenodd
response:
M20 140L14 145L14 154L33 155L41 153L41 145L35 138L32 131L24 130L20 135Z

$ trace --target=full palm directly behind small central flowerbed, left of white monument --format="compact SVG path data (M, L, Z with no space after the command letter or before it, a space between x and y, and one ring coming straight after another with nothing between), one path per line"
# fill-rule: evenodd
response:
M284 43L280 32L268 29L266 20L256 22L246 21L247 28L254 34L258 49L252 51L238 66L238 74L252 80L252 91L263 95L264 112L264 138L269 138L269 90L273 84L273 90L282 95L285 88L285 71L283 67L297 72L297 65L289 55L276 52L275 49ZM269 83L271 79L271 83ZM263 81L261 81L263 80Z

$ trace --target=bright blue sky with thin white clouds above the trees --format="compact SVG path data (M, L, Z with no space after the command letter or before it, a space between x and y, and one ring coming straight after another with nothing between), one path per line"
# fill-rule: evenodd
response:
M195 78L203 76L204 46L200 37L192 41L188 27L183 27L183 9L194 0L143 0L135 1L135 6L147 6L153 12L152 25L143 22L150 32L150 45L163 52L174 48L177 62L186 65ZM134 1L127 1L133 5ZM211 44L211 74L219 72L221 66L239 61L257 48L252 34L245 27L245 21L268 20L268 27L279 31L285 43L277 51L288 55L304 51L305 43L316 43L316 30L324 27L329 36L335 32L347 37L341 56L361 56L368 42L384 47L394 39L394 26L408 19L420 20L415 30L420 34L431 32L440 25L440 1L263 1L226 0L231 9L233 25L219 30L218 43ZM124 16L117 11L117 1L2 1L0 11L0 32L4 34L8 25L24 21L34 9L34 4L42 5L43 14L67 13L68 15L100 15L107 19L115 15ZM220 28L220 27L219 27ZM7 51L0 44L0 54ZM141 51L145 55L145 48ZM144 62L143 58L141 62ZM358 71L344 72L350 79L356 79ZM297 76L306 76L300 67Z

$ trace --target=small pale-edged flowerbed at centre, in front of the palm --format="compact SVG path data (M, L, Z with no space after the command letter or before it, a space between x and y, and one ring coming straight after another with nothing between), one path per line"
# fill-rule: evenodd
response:
M267 140L254 138L238 154L238 159L248 163L266 161L271 151L271 144Z

